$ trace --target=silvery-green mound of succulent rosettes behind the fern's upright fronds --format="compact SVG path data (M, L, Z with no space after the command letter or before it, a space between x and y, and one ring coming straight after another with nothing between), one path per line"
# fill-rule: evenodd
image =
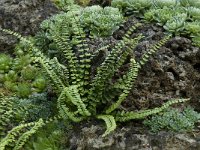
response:
M53 16L50 20L45 20L41 24L41 28L45 32L49 31L49 33L45 33L49 40L52 39L52 32L60 35L62 30L67 30L65 32L68 32L71 36L74 32L77 32L76 28L79 26L82 26L85 31L94 36L110 36L122 22L123 16L117 8L91 6ZM67 25L66 28L62 29L62 24ZM74 41L74 44L76 44L76 41Z

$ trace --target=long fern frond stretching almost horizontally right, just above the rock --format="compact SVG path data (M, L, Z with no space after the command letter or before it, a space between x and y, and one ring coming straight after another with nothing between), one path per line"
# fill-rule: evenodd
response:
M181 102L186 102L190 99L174 99L166 102L163 104L161 107L158 108L153 108L153 109L148 109L148 110L141 110L138 112L125 112L125 111L118 111L115 114L115 119L116 121L124 122L132 119L143 119L149 115L153 115L156 113L159 113L163 111L164 109L168 108L169 106L176 104L176 103L181 103Z

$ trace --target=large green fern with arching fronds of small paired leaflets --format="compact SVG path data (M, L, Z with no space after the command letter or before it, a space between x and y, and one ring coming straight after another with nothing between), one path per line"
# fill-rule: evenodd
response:
M90 117L103 119L107 126L107 130L103 136L106 136L116 128L116 121L123 122L131 119L141 119L158 113L174 103L188 100L175 99L163 104L159 108L137 112L125 112L121 110L120 105L126 100L132 89L139 70L148 61L148 58L170 38L170 35L166 35L159 42L152 45L142 55L140 60L136 61L131 53L143 36L139 34L135 38L131 38L131 35L136 27L141 25L140 23L136 23L130 27L123 38L114 46L106 45L95 51L90 50L86 40L88 37L79 24L76 21L72 22L72 24L73 35L70 35L68 30L69 24L65 20L61 22L60 29L53 31L52 34L52 40L56 44L57 50L63 54L66 64L59 62L56 57L53 59L48 58L32 41L22 37L18 33L2 29L2 31L18 37L21 41L29 45L28 52L34 63L40 64L49 77L58 97L58 113L55 117L69 119L74 122L80 122ZM72 39L76 39L75 46L74 42L73 46L71 44L70 40ZM94 71L95 75L93 75L91 71L93 64L91 62L102 50L107 50L108 54L96 68L96 71ZM129 59L128 71L119 79L113 81L115 73L127 59ZM37 128L44 124L43 120L30 124L33 126L30 132L34 133ZM12 131L15 132L15 130L18 132L17 127ZM9 144L8 139L10 138L8 136L13 135L12 131L0 142L0 147L5 148ZM21 143L24 143L29 135L22 135L22 139L19 139L23 141ZM19 140L16 144L20 143ZM17 147L22 147L22 144L18 144Z

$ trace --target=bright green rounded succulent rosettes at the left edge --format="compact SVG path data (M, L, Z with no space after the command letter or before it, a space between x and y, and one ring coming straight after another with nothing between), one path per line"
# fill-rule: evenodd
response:
M17 51L16 53L18 53ZM41 70L31 65L30 55L11 58L9 55L1 54L0 61L2 61L0 87L5 89L3 94L13 93L25 98L31 93L45 90L46 80L40 73Z

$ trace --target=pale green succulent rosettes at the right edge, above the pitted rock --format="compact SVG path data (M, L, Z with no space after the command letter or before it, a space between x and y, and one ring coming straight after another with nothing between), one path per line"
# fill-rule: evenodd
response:
M177 4L178 5L178 4ZM175 35L189 35L193 44L198 46L199 35L199 8L196 7L163 7L152 8L144 13L144 19L150 22L157 22L158 25ZM194 40L193 40L194 38Z

